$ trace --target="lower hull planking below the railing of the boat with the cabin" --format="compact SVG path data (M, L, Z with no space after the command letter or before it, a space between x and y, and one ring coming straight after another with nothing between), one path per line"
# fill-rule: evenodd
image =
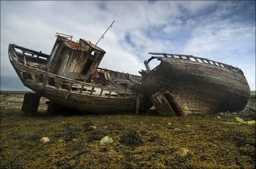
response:
M23 84L36 93L44 96L52 102L64 107L88 113L116 113L116 112L134 112L134 98L102 98L97 96L87 96L77 92L56 89L55 87L35 84L22 80ZM66 96L68 97L66 98Z

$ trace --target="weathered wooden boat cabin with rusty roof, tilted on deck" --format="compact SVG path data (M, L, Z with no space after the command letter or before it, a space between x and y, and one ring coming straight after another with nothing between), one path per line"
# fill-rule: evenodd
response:
M47 62L47 71L62 77L90 82L106 52L90 41L80 39L76 43L72 41L72 36L59 33L56 37Z

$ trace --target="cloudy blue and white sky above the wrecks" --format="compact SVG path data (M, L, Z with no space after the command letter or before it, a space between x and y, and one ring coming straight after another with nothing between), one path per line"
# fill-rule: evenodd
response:
M96 43L113 20L101 68L139 75L148 52L195 55L241 68L255 90L255 1L1 1L1 90L28 91L10 43L50 54L56 33Z

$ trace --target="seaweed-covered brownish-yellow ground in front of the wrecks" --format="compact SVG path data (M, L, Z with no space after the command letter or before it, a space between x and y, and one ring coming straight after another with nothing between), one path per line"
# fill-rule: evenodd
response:
M1 168L255 168L255 125L236 121L255 120L255 95L244 112L187 117L52 116L46 99L26 116L14 95L1 93Z

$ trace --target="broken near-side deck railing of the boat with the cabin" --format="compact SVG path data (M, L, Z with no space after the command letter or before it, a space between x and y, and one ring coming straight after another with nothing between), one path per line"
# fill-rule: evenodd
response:
M67 91L68 94L66 98L68 98L70 92L108 98L134 97L134 91L127 88L103 87L95 84L88 84L86 82L47 73L46 71L33 69L19 63L15 64L15 68L19 70L20 78L22 78L22 80L44 85L45 87L53 87L54 89Z

